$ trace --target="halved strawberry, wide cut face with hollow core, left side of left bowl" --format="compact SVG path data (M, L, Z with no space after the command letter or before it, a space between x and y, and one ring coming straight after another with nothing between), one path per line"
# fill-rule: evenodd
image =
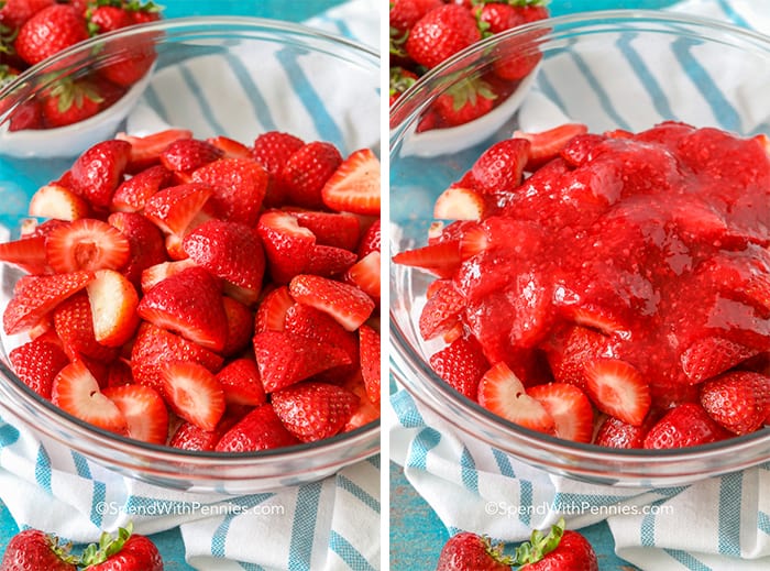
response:
M45 240L48 265L59 274L120 270L131 244L117 228L95 218L80 218L54 228Z

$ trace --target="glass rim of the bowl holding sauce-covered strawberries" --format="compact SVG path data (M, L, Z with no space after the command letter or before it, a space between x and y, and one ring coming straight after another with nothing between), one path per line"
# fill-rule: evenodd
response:
M768 57L770 58L770 36L706 17L653 10L597 10L549 18L503 32L501 34L495 34L483 40L482 42L473 44L472 46L459 52L450 59L443 62L436 68L429 70L425 76L409 87L391 109L389 161L393 162L395 158L397 158L395 153L398 151L405 135L415 123L415 119L419 117L432 101L436 90L440 87L440 79L448 73L462 69L463 63L473 62L473 56L482 54L485 50L488 50L499 42L508 39L527 36L527 34L532 34L532 32L544 31L553 33L554 30L559 30L559 33L571 33L574 35L580 33L582 30L594 28L601 31L616 32L618 30L614 28L608 29L607 25L623 23L680 24L685 26L681 31L689 32L690 34L695 32L724 33L736 41L748 41L750 43L761 45L768 52ZM639 33L662 33L664 30L634 29L632 31ZM559 37L559 33L556 33L556 35L546 35L544 41L553 41L554 37ZM538 36L538 41L543 41L543 37ZM416 99L421 100L416 101ZM394 119L396 120L395 124ZM391 241L391 253L394 254L397 251L398 249L395 248L395 244L393 241ZM417 270L409 267L397 270L392 264L389 272L391 290L393 292L395 289L395 283L397 281L406 279L405 275L407 275L409 272L416 271ZM400 275L400 272L403 272L404 275ZM407 393L410 394L410 396L413 396L420 404L427 406L430 411L437 415L441 420L448 422L453 429L464 432L471 438L481 440L493 448L502 449L503 451L512 453L513 455L520 457L520 454L516 454L509 449L506 450L505 448L501 448L501 443L488 436L490 430L497 433L502 432L503 435L509 433L518 439L515 442L516 446L530 446L539 449L543 453L559 455L562 459L564 455L570 457L569 461L561 460L554 465L549 463L548 460L544 460L544 457L536 454L537 458L532 459L531 454L525 454L531 461L530 463L535 463L541 468L550 466L547 469L550 471L556 470L557 472L565 473L566 475L588 475L590 477L600 475L606 479L619 479L619 481L624 483L628 483L627 480L629 477L636 479L637 481L644 481L645 477L656 480L656 469L658 466L662 468L664 464L670 465L672 461L676 461L676 464L690 463L689 465L693 465L692 463L701 463L703 466L706 466L710 465L706 464L707 460L722 457L726 451L740 452L762 444L765 444L762 449L766 450L761 458L746 461L741 457L743 463L740 465L725 466L724 470L721 471L719 469L712 470L704 473L703 477L716 475L717 473L732 472L748 468L749 465L757 465L770 460L770 427L760 428L756 432L748 435L735 436L727 440L689 448L669 450L625 450L600 447L593 443L566 441L510 422L486 410L472 399L461 395L436 374L432 367L429 366L427 360L420 356L417 349L413 348L411 342L408 340L408 336L404 333L397 316L397 307L393 303L394 298L395 296L391 294L391 373L399 381L400 385L407 391ZM402 309L402 312L404 310ZM417 380L418 377L419 380ZM447 411L447 403L451 404L452 407L457 407L461 414L476 424L473 424L471 428L458 426L455 419L452 418L451 413ZM579 465L576 462L587 463L585 465ZM613 472L602 473L601 466L598 465L601 462L612 462ZM645 469L646 464L647 468ZM618 469L618 465L623 465L623 468ZM676 476L685 479L698 475L698 473L696 473L693 469L690 470L691 472L688 473L662 473L661 480L666 477L675 477L672 476L674 473Z

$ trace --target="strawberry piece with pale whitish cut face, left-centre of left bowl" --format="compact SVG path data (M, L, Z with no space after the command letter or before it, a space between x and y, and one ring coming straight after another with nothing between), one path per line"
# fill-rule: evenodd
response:
M139 327L139 295L131 282L114 270L99 270L86 290L96 340L107 347L129 341Z

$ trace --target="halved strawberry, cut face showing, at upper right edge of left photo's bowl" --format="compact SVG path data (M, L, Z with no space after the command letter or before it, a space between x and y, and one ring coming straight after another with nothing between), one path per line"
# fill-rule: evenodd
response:
M323 205L341 212L380 215L380 160L370 149L353 152L321 190Z

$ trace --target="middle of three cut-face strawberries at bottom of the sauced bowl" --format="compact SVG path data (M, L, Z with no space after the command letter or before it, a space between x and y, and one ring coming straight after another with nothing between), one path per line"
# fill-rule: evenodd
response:
M573 442L591 442L594 408L580 388L566 383L535 385L527 391L548 410L556 422L556 435Z

